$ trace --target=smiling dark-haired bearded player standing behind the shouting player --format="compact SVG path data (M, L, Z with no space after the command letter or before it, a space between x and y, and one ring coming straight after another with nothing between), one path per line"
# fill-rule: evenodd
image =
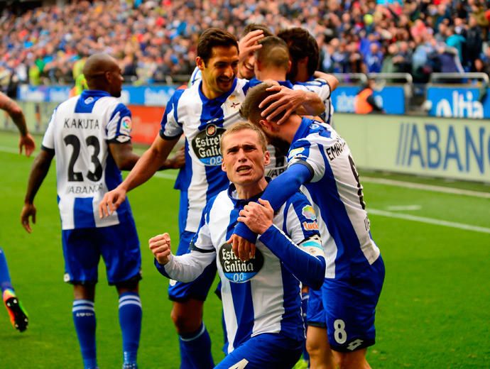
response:
M246 79L236 79L239 65L236 38L219 28L209 28L200 36L196 64L202 72L201 82L173 94L163 115L160 134L151 148L142 155L124 182L108 192L99 204L101 217L111 214L124 202L126 192L146 182L155 173L185 133L185 167L178 180L181 191L178 255L187 253L205 204L228 187L229 180L221 170L219 138L239 121L239 107L245 99L244 86L247 83ZM290 90L281 95L284 99L287 99L285 94L289 94L291 99L298 94L302 97L295 99L296 108L302 104L323 106L314 93ZM192 283L170 281L171 317L180 336L181 368L214 367L202 310L215 275L216 265L209 265Z

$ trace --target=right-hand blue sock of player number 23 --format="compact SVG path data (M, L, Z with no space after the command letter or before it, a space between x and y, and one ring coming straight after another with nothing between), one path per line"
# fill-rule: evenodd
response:
M141 334L141 300L136 292L119 295L119 325L121 326L124 368L136 368Z

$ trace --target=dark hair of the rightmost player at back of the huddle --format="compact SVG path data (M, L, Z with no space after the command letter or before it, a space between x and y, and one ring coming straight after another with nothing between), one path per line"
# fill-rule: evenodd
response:
M307 30L300 27L283 30L278 33L278 37L285 40L285 43L288 44L293 64L303 59L303 57L308 57L308 75L313 75L320 61L317 40Z

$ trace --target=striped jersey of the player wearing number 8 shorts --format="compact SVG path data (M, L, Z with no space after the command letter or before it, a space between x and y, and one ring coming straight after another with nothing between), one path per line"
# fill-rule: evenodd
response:
M303 118L288 153L288 166L306 165L312 179L301 189L318 216L327 278L364 270L380 255L349 146L331 126Z

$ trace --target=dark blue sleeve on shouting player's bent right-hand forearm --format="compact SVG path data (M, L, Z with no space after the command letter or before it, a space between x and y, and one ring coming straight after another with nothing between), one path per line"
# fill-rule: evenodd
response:
M276 226L270 226L261 235L261 241L300 282L315 290L322 287L326 268L325 258L301 250Z

